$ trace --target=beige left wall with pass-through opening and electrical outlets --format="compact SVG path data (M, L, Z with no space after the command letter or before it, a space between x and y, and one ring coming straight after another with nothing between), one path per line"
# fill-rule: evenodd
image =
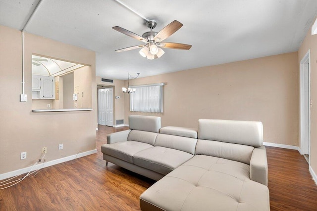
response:
M32 113L31 56L47 55L91 65L93 111ZM25 33L25 93L22 93L21 32L0 26L0 174L34 164L42 147L47 161L96 149L95 52ZM64 149L58 151L58 144ZM20 160L20 153L27 159Z

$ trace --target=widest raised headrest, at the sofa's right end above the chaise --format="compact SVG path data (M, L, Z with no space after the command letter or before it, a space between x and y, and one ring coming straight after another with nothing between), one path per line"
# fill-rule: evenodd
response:
M263 125L251 121L200 119L198 138L260 147L263 145Z

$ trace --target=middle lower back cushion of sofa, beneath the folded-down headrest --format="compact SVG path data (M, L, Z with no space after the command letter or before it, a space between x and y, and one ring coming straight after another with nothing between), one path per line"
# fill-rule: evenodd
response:
M158 134L155 146L181 150L195 155L197 139L177 135Z

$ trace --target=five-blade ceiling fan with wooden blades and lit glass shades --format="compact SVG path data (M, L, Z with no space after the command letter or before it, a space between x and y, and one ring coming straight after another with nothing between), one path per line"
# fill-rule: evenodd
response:
M177 20L174 20L170 24L165 26L162 30L159 31L159 33L153 31L153 29L157 26L157 22L155 20L147 21L146 25L148 28L150 28L151 31L144 33L142 37L126 29L123 29L119 26L112 27L112 29L118 32L121 32L127 36L130 36L131 38L134 38L138 41L145 43L145 44L118 49L115 51L122 52L122 51L142 48L139 51L141 56L152 60L152 59L157 59L164 54L164 51L160 47L181 49L181 50L189 50L192 47L192 45L190 44L162 42L163 40L165 40L166 38L174 34L177 30L179 30L183 26L183 24L181 24Z

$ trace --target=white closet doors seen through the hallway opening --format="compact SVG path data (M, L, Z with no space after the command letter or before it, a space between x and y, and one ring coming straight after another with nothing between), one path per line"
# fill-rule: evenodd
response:
M113 127L113 87L98 88L98 125Z

